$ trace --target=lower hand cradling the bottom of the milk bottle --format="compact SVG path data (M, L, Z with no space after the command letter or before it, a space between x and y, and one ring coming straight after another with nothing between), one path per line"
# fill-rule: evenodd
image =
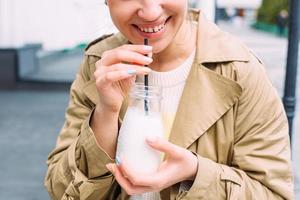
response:
M127 194L158 192L178 182L195 179L198 168L196 155L160 138L147 139L147 143L166 155L156 173L138 174L128 168L124 158L117 158L117 165L106 165Z

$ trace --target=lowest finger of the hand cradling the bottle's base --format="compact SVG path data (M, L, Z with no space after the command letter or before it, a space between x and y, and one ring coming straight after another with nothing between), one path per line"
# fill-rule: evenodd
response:
M108 169L110 169L110 171L114 174L117 182L129 195L142 194L151 191L149 187L133 185L128 179L124 177L120 169L115 164L109 165L110 166L108 167Z

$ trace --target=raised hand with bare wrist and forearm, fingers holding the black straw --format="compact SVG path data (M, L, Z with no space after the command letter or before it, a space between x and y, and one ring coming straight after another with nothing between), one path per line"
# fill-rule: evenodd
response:
M128 95L136 75L151 71L143 67L152 62L147 54L151 46L123 45L106 51L96 63L94 77L99 103L90 122L97 144L111 157L115 157L118 137L118 116L124 98Z

